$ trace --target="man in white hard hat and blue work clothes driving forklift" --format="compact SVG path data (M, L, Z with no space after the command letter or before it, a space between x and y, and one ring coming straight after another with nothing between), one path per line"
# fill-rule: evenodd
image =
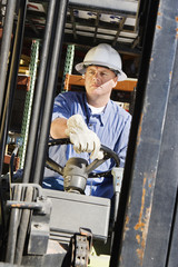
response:
M131 116L110 100L117 81L127 78L121 70L120 56L111 46L100 43L88 51L76 69L83 76L86 92L58 95L50 128L51 138L69 137L73 146L51 147L49 156L61 166L71 157L82 157L90 164L95 158L102 158L102 144L118 154L120 167L123 167ZM109 159L96 171L112 167L113 160ZM46 170L43 187L62 190L62 177ZM111 198L112 179L88 179L86 195Z

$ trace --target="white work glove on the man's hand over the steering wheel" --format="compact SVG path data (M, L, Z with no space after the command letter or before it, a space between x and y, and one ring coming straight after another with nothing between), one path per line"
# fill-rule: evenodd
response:
M81 115L73 115L67 121L66 135L73 144L76 152L91 152L90 158L102 159L103 152L100 151L100 140L98 136L88 129Z

